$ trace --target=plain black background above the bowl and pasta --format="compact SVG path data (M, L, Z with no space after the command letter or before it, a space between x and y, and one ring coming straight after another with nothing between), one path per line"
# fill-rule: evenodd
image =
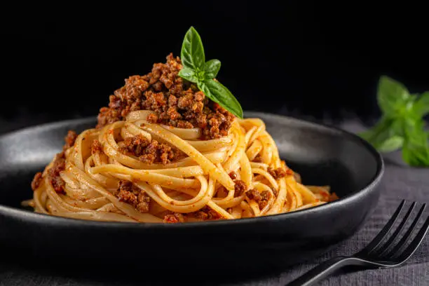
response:
M97 114L123 79L179 55L191 25L243 109L369 122L382 74L429 90L423 4L182 2L1 9L3 129Z

